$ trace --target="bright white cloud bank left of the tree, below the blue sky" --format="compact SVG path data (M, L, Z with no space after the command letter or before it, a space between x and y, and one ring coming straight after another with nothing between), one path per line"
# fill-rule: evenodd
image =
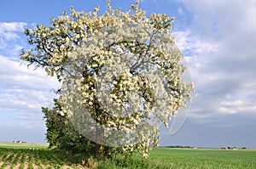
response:
M43 69L28 69L20 61L1 55L0 63L0 109L19 112L13 118L20 119L24 126L36 125L42 121L41 107L49 106L56 97L50 90L59 87L59 82Z

